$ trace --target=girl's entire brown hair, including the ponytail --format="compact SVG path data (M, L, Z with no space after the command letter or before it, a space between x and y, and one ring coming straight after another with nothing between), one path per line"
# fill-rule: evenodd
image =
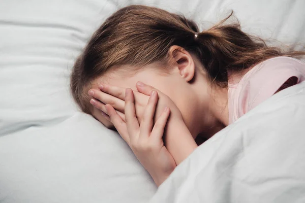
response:
M119 65L166 63L173 45L196 54L211 80L223 87L228 83L228 70L240 71L271 57L305 53L268 47L241 31L239 23L225 25L231 15L199 32L194 21L162 9L128 6L118 10L94 33L75 62L71 91L76 103L90 114L87 91L93 80Z

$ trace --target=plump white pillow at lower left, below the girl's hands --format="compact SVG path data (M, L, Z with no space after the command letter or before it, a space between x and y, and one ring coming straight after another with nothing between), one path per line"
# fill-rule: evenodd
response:
M156 191L129 146L93 117L0 137L0 202L147 202Z

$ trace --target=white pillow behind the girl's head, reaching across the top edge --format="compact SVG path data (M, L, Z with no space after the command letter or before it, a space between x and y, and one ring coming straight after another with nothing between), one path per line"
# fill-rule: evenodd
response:
M69 95L74 59L106 17L130 4L183 13L199 24L234 10L245 30L305 42L304 1L6 1L0 7L0 136L53 125L77 111ZM202 29L212 24L205 22Z

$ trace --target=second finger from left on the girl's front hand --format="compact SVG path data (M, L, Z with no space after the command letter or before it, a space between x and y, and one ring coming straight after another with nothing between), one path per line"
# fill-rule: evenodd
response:
M132 89L129 88L125 92L125 119L130 139L132 140L139 134L139 122L136 117L134 94Z

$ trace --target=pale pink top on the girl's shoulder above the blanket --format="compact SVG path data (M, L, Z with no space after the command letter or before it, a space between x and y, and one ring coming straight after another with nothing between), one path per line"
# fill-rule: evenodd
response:
M245 75L228 73L229 124L271 97L290 78L305 81L305 63L280 56L255 65Z

